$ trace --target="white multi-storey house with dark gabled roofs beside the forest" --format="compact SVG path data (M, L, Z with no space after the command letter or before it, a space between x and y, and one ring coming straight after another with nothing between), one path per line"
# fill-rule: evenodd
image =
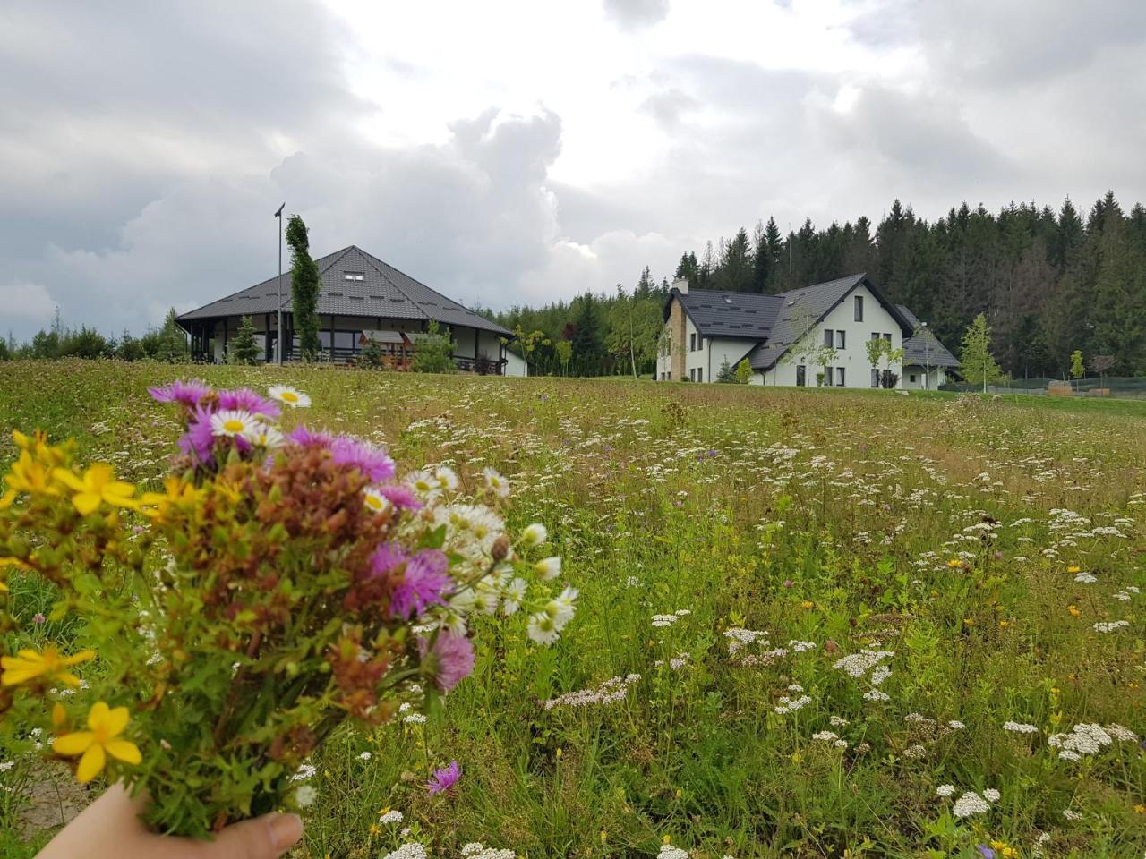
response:
M747 360L755 385L879 387L884 371L897 386L937 387L944 368L958 362L905 308L890 304L864 274L817 283L778 295L689 290L673 284L657 364L660 381L715 381L727 361ZM873 369L865 342L882 339L904 361L881 360ZM911 383L903 381L908 364ZM918 381L917 381L918 380Z

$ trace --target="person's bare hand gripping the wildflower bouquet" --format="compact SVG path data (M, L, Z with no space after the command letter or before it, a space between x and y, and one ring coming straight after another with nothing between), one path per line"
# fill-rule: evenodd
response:
M277 859L303 836L295 814L264 814L234 823L214 841L174 838L148 832L140 813L147 799L108 788L60 830L37 859Z

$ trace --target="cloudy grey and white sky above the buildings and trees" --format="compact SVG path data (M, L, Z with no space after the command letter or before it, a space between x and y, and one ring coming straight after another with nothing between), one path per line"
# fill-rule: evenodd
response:
M275 273L501 308L892 199L1146 199L1141 0L2 0L0 333Z

